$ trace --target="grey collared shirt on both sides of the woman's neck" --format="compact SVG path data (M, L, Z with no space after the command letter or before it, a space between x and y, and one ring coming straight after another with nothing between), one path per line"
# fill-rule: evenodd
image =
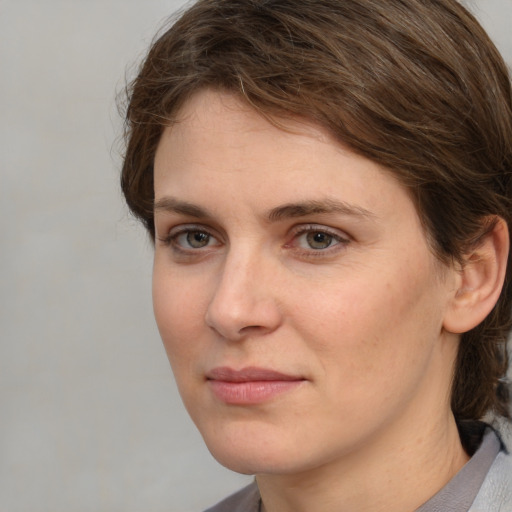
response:
M499 455L503 457L498 457ZM471 508L474 503L482 502L480 496L482 493L479 491L486 482L486 477L493 469L493 465L496 465L497 459L500 459L498 463L502 458L508 461L504 470L508 472L508 468L512 467L510 457L500 436L491 427L487 427L480 446L467 464L416 512L494 512L498 510L512 512L512 501L503 496L494 498L500 500L497 505L490 504L484 507L478 505L478 508ZM503 471L500 470L499 474L501 473ZM512 473L503 474L500 479L501 485L505 485L512 492ZM489 487L492 487L492 482L491 484L487 482L483 490ZM256 483L253 482L205 512L258 512L259 503L260 494Z

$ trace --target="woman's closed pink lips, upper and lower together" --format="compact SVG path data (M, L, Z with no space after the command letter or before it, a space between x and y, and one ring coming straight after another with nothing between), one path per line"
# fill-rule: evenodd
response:
M270 401L300 386L305 379L266 368L234 370L218 367L206 374L214 396L230 405L256 405Z

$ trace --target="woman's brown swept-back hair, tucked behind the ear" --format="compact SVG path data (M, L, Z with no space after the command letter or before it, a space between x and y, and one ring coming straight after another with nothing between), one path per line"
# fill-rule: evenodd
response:
M202 88L273 120L300 116L387 167L450 264L501 216L512 226L512 93L501 56L456 0L199 0L152 46L128 88L122 189L154 238L161 133ZM507 414L510 255L491 314L462 335L458 419Z

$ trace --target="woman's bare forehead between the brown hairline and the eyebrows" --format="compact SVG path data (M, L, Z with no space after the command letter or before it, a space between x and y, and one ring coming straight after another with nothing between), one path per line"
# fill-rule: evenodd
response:
M334 196L367 211L389 206L398 195L414 211L388 170L322 127L297 119L280 119L276 126L235 95L210 90L193 95L161 137L155 200L168 194L268 208Z

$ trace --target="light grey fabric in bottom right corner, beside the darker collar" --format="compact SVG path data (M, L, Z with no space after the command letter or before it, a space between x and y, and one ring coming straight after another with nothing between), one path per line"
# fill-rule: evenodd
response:
M496 456L470 512L512 512L512 422L504 418L492 421L502 450Z

